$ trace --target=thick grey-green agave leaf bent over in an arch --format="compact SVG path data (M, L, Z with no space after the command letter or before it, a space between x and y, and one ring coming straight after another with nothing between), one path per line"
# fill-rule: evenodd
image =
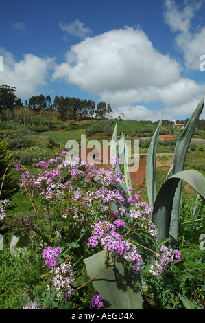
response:
M162 184L154 203L152 221L158 229L157 241L169 238L175 244L178 238L178 219L171 219L174 196L180 180L189 183L205 202L205 177L197 170L183 170L172 175Z

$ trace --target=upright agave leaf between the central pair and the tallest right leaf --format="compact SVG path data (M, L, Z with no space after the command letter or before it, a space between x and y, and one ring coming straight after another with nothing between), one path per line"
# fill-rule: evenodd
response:
M154 132L152 141L149 144L147 152L147 164L146 164L146 186L147 197L149 204L154 205L156 199L156 150L158 144L158 136L160 134L160 128L162 125L162 118L158 123L158 127Z

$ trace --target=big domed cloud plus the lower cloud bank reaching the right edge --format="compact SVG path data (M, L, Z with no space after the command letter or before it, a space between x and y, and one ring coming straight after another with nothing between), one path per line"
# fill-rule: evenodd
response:
M115 117L124 111L127 118L144 120L157 120L162 113L172 119L188 115L204 92L204 85L182 78L182 66L158 52L143 30L132 27L86 38L71 46L66 58L56 65L53 80L62 78L99 95ZM154 113L145 107L150 102L164 108Z

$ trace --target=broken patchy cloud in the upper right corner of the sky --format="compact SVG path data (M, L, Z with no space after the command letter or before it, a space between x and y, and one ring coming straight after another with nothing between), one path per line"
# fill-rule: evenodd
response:
M202 7L202 1L194 4L186 2L178 8L173 0L165 1L165 23L176 32L176 45L184 54L185 65L188 69L199 69L199 59L205 48L205 27L197 26L193 31L191 20Z

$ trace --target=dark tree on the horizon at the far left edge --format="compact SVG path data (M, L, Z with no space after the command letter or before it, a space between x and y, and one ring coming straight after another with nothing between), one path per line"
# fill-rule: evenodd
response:
M5 109L12 110L16 105L17 96L15 94L16 87L10 85L0 85L0 113Z

